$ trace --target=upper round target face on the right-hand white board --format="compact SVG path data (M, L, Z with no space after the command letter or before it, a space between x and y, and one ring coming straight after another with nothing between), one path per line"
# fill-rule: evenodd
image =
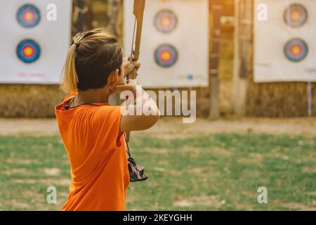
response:
M291 4L284 12L284 20L290 27L301 27L308 19L308 11L301 4Z

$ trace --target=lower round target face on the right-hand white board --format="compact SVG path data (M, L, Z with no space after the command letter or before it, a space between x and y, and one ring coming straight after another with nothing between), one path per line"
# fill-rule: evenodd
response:
M284 53L292 62L299 62L307 56L308 46L302 39L291 39L285 45Z

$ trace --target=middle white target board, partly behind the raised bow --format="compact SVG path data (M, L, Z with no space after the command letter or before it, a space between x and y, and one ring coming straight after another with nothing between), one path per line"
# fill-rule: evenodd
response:
M133 1L124 1L126 56L133 10ZM140 42L137 79L145 88L209 86L209 0L146 1Z

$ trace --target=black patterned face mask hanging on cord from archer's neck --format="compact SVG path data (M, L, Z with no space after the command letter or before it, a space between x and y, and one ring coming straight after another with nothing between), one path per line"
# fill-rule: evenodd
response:
M76 98L76 97L74 97ZM72 98L71 103L74 101L74 98ZM84 104L80 104L77 106L72 106L70 107L69 105L65 105L65 109L69 110L70 108L77 108L81 105L94 105L94 106L100 106L100 105L95 105L95 104L91 104L91 103L84 103ZM131 152L129 151L129 143L127 143L126 141L126 136L124 134L124 141L126 143L126 147L127 147L127 154L129 155L129 158L127 160L128 162L128 167L129 167L129 181L130 182L137 182L137 181L145 181L148 179L148 176L145 175L145 167L136 165L136 162L133 158L131 158Z

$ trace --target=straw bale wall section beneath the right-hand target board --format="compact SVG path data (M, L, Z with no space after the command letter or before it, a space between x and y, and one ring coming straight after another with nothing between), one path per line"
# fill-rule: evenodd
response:
M255 117L307 116L305 82L255 84L249 77L246 115ZM316 116L316 84L312 84L312 115Z

